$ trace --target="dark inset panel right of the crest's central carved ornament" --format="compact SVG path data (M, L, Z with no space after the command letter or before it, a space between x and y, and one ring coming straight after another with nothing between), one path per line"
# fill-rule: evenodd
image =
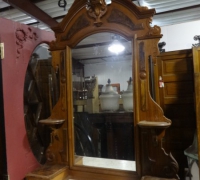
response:
M144 29L143 24L134 24L128 16L118 9L112 10L110 17L108 18L108 22L122 24L132 31Z

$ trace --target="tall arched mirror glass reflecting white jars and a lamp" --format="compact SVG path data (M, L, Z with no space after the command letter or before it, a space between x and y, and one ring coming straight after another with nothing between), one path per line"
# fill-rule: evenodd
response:
M135 171L132 49L117 34L98 33L72 50L77 165Z

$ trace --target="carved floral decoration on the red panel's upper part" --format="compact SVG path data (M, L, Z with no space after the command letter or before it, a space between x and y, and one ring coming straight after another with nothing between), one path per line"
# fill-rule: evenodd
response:
M16 36L16 45L17 45L17 59L18 59L21 55L21 50L24 47L24 43L27 40L36 41L38 39L38 36L35 32L32 31L30 27L28 28L27 31L20 28L17 29L15 32L15 36Z

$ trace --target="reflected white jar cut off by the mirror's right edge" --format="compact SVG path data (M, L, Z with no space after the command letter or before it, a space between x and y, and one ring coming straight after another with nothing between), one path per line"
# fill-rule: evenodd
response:
M123 108L127 112L133 112L133 81L130 77L127 90L122 94Z

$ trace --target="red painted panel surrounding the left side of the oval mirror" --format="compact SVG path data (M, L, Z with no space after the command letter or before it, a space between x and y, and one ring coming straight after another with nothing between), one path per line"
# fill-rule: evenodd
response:
M36 46L55 37L52 32L0 18L0 39L5 48L2 76L7 169L10 180L22 180L39 165L30 149L24 124L25 73Z

